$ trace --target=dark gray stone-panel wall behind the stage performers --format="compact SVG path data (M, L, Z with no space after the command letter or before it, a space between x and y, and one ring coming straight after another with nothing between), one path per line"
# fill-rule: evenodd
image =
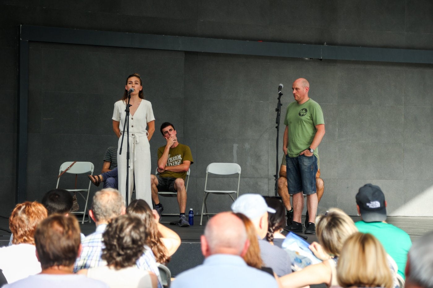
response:
M433 3L421 0L2 1L0 214L7 215L14 205L19 24L432 50L432 13ZM239 163L240 193L273 195L277 87L284 84L284 116L293 100L291 83L306 77L326 122L320 145L325 194L319 211L336 206L356 214L355 193L372 182L385 192L390 214L433 216L432 65L36 42L30 44L29 58L29 200L40 200L55 187L64 161L91 161L100 171L105 149L116 144L113 103L132 72L142 75L156 117L152 163L164 144L158 131L162 122L173 122L181 143L191 147L187 208L201 210L211 162ZM284 125L281 138L283 131ZM166 209L176 210L174 199L163 201ZM230 203L228 197L210 202L215 211Z

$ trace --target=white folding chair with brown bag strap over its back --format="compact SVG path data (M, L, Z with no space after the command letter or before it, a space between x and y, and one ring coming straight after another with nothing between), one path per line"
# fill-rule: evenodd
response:
M72 166L71 166L72 164ZM81 224L84 224L84 217L86 215L86 211L88 212L87 209L87 203L89 201L89 192L90 192L90 186L92 184L92 182L89 180L89 186L86 188L81 188L81 189L77 189L77 177L78 174L85 174L87 175L93 175L93 170L94 170L94 165L91 162L73 162L73 161L69 161L69 162L65 162L62 163L60 165L60 170L58 172L58 178L57 178L57 185L56 185L56 189L59 188L58 183L60 181L60 175L62 173L69 173L69 174L75 174L75 187L74 189L65 189L64 186L62 186L62 189L65 189L66 191L69 192L74 192L77 195L80 195L84 201L86 201L86 204L84 205L84 210L83 211L77 211L77 212L71 212L72 214L83 214L83 220L81 221ZM87 178L87 177L86 177ZM91 222L91 219L89 217L89 223Z

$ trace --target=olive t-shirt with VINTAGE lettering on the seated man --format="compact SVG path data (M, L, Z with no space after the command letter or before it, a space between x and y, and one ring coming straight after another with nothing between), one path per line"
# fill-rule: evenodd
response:
M158 148L158 159L161 158L162 154L164 153L165 146L161 146ZM187 145L184 144L178 144L178 146L174 148L170 148L168 150L168 160L167 164L165 166L176 166L182 164L184 161L191 161L191 164L194 163L192 160L192 154L191 149ZM186 171L185 172L171 172L171 171L164 171L159 174L160 177L173 177L173 178L183 178L185 180L185 177L187 176Z

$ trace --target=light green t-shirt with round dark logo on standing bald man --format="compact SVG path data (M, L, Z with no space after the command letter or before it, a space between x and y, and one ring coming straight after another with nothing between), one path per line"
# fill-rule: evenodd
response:
M284 125L288 126L288 148L289 157L297 157L299 153L308 149L316 134L316 125L325 124L322 108L313 99L299 105L296 101L287 106ZM318 157L319 150L314 150Z

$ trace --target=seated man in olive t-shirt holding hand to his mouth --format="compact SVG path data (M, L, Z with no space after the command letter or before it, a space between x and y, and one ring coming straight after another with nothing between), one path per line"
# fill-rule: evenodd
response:
M177 132L173 124L162 123L160 131L167 140L167 144L158 148L159 174L156 176L151 175L152 201L155 203L155 209L161 217L164 208L159 202L158 191L178 192L179 226L188 227L190 225L185 216L187 205L185 177L189 166L194 163L191 149L187 145L178 142Z

